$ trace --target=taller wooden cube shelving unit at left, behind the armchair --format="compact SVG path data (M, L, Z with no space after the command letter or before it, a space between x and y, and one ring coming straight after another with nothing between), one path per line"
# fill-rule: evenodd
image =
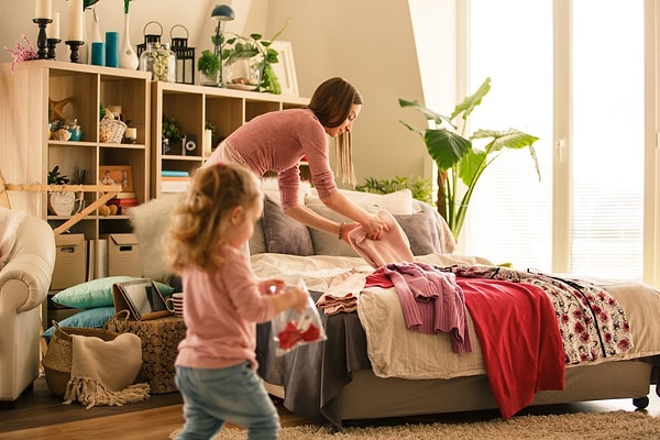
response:
M77 119L82 130L79 141L48 139L48 99L62 101L67 120ZM139 202L150 197L151 74L56 61L0 65L0 164L10 184L46 184L47 174L58 166L72 184L97 185L100 167L129 165L133 191ZM105 143L99 140L100 106L121 106L122 114L136 128L133 144ZM78 182L81 170L87 179ZM47 220L57 228L73 216L48 212L48 194L11 194L14 209ZM102 193L85 193L89 206ZM105 234L130 232L127 216L100 216L98 210L70 227L72 233L98 240ZM92 267L90 273L96 274Z

